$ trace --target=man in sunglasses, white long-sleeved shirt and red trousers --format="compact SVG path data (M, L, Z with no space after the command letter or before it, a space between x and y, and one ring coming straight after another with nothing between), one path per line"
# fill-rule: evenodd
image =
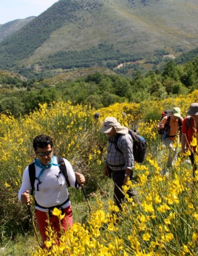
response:
M36 159L26 167L23 173L18 198L28 205L30 204L30 191L32 194L35 190L36 218L43 242L47 240L46 220L48 219L47 213L49 213L50 225L57 232L58 244L59 220L57 216L52 215L52 210L56 207L62 211L62 214L65 214L61 220L63 230L72 226L71 203L66 185L69 184L78 189L85 183L85 178L80 173L74 173L68 160L53 155L53 142L50 136L38 135L33 140L33 147Z

